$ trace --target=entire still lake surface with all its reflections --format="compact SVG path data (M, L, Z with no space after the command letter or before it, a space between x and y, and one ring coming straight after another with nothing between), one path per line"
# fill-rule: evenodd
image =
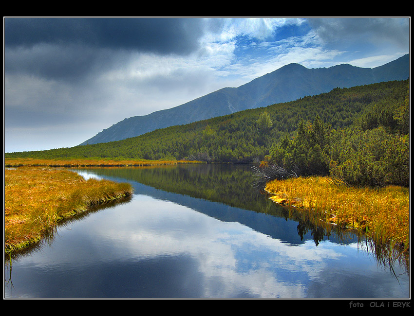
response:
M409 298L404 260L280 207L248 165L73 169L134 195L5 264L5 298Z

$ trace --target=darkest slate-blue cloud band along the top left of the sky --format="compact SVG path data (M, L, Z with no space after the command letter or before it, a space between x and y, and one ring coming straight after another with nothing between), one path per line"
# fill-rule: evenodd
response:
M4 44L81 44L159 54L187 54L203 33L199 18L5 18Z

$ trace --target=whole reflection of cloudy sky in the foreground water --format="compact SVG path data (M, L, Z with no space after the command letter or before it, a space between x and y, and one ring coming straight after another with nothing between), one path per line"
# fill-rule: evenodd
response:
M238 222L142 194L60 227L53 244L13 263L13 274L14 288L6 289L6 297L343 298L401 293L389 272L380 271L354 245L323 240L316 246L306 240L292 246Z

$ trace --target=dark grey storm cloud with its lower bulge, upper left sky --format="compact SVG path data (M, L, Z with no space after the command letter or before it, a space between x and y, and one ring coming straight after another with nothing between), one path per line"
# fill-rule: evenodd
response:
M5 18L5 71L79 80L132 52L186 55L202 34L194 18Z

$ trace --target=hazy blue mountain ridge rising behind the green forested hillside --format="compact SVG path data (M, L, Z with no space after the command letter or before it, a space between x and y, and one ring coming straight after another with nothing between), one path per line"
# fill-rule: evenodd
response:
M124 140L159 128L289 102L304 96L329 92L334 88L405 80L409 78L409 74L409 54L376 68L341 64L330 68L308 69L299 64L289 64L238 88L222 88L183 105L124 119L80 145Z

